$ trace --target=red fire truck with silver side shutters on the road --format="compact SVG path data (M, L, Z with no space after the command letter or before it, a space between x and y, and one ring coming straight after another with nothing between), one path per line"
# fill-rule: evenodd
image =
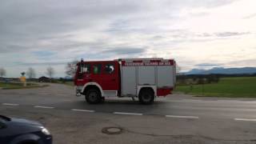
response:
M77 96L98 103L106 97L138 98L151 104L171 94L176 80L174 59L124 58L114 61L78 62L74 76Z

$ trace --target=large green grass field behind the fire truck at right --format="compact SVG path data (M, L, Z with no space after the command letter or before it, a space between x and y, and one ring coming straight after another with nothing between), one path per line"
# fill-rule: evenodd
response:
M197 96L256 97L256 77L221 78L218 83L177 86L175 91Z

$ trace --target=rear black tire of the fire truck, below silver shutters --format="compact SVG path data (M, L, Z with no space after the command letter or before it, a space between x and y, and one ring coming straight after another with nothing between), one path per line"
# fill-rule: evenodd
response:
M141 90L138 94L138 100L145 105L152 104L154 102L154 91L151 89Z

